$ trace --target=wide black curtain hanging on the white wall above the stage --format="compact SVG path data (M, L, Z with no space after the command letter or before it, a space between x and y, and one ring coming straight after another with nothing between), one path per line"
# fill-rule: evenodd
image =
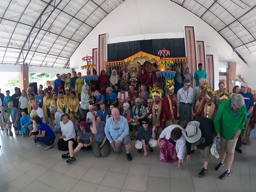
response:
M185 57L186 55L184 38L136 40L108 44L108 61L123 60L139 51L158 55L158 51L163 48L170 51L170 56L167 57Z

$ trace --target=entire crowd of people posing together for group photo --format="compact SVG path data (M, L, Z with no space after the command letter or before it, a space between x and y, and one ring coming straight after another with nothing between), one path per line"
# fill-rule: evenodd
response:
M216 170L227 168L220 176L231 175L234 152L242 153L242 143L252 138L251 129L256 127L254 97L243 82L241 90L234 86L232 93L225 89L224 82L214 91L206 83L207 74L199 64L194 76L188 68L175 69L174 79L158 77L158 66L154 63L152 74L145 68L131 71L124 63L123 70L101 71L97 80L84 82L81 73L57 74L54 88L43 89L40 85L35 95L31 88L15 88L15 94L1 93L0 126L6 135L29 135L37 146L53 147L56 134L58 149L69 151L62 155L67 163L75 161L80 150L91 150L96 157L108 156L112 147L114 153L121 151L124 144L127 160L132 140L136 139L138 153L148 156L148 150L160 148L159 160L167 163L182 162L193 158L190 155L200 151L204 165L199 177L207 173L211 146L220 142L220 160ZM97 75L93 69L93 75ZM193 89L194 79L196 85ZM11 118L10 118L11 116ZM131 134L130 134L131 133Z

